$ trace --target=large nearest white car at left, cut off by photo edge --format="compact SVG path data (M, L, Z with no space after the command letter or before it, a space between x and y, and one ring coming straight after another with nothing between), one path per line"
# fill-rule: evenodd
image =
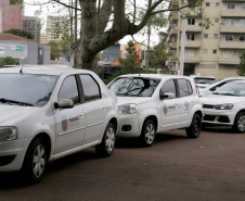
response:
M0 70L0 172L40 181L47 162L88 147L113 153L116 96L92 72L64 67Z

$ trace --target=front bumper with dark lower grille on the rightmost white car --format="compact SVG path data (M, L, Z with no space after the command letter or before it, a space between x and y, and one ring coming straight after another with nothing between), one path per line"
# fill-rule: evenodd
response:
M203 109L203 123L218 124L218 125L233 125L234 115L232 110L208 110Z

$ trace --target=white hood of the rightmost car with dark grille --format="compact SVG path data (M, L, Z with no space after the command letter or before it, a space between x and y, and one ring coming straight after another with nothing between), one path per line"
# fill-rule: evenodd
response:
M232 96L221 96L221 95L208 95L201 97L201 102L203 104L223 104L223 103L234 103L234 102L245 102L245 97L232 97Z

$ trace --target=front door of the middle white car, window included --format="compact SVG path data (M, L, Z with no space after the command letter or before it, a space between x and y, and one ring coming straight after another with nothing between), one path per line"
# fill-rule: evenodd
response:
M170 128L179 123L179 99L177 97L176 83L173 79L168 79L160 88L160 92L172 92L173 99L163 99L160 101L162 128Z

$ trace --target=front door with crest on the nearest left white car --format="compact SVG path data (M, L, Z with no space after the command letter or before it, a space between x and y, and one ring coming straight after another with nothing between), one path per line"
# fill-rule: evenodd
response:
M72 109L54 111L56 142L55 154L60 154L82 145L86 130L85 105L81 104L75 75L66 77L57 95L57 101L69 99L74 101Z

